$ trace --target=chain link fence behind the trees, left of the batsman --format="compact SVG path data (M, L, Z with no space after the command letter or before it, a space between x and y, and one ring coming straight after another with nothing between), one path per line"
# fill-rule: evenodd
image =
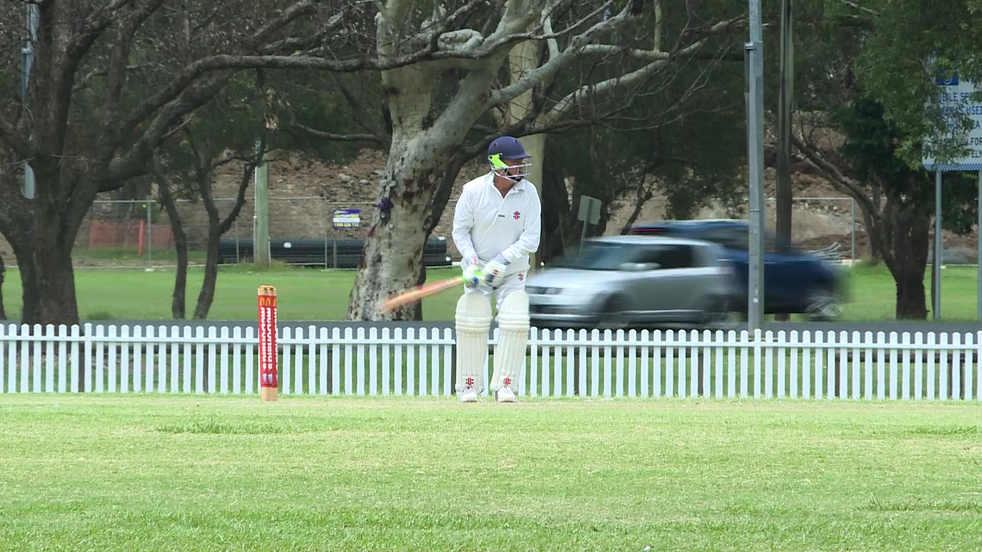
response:
M235 198L214 200L219 220L235 206ZM178 200L177 210L188 241L191 266L205 261L208 214L200 200ZM454 201L427 241L428 266L446 266L456 255L449 240ZM274 261L325 268L355 268L368 235L375 206L367 201L329 201L320 196L269 198L270 253ZM255 235L252 198L222 236L219 262L251 262ZM177 262L174 230L166 209L153 198L98 200L86 214L73 250L79 268L166 267Z

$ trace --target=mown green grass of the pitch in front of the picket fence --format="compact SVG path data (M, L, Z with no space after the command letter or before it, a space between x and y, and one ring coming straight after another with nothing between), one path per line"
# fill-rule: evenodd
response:
M977 405L8 396L9 550L979 550Z

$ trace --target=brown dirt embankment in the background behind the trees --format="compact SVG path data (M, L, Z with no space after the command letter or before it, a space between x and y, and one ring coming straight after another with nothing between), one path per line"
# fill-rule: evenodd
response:
M363 237L374 210L373 203L378 193L378 184L385 156L377 151L365 150L353 162L327 166L315 161L287 158L271 163L269 171L270 188L270 236L273 239L322 239ZM451 197L460 193L465 182L480 175L484 165L472 162L464 167L458 178L456 190ZM216 178L215 196L219 211L224 216L231 209L231 200L236 193L242 175L235 168L221 171ZM851 248L851 233L854 225L856 255L862 256L868 250L868 241L858 207L853 219L852 202L844 194L833 189L824 179L796 173L793 177L794 197L792 212L792 238L807 248L825 248L838 243L846 255ZM765 186L768 197L774 196L775 174L773 169L765 173ZM109 199L109 196L104 197ZM102 197L100 197L102 199ZM774 226L774 201L769 200L767 210L768 225ZM657 220L665 216L666 201L662 196L652 198L644 206L640 220ZM106 204L101 205L100 214L93 218L103 219ZM136 207L139 208L138 206ZM358 209L361 212L363 227L359 230L334 230L332 215L335 209ZM624 201L616 205L608 224L608 234L619 234L627 221L632 204ZM118 209L117 209L118 211ZM192 248L203 244L207 233L207 219L199 202L185 202L180 205L182 221L189 235ZM95 212L95 210L93 210ZM453 220L454 203L451 201L437 225L434 236L449 239ZM239 220L226 235L231 238L251 238L252 236L252 191L246 193ZM745 218L745 209L728 211L721 205L710 205L701 209L696 218ZM134 219L136 220L136 218ZM854 220L854 222L853 222ZM136 224L136 223L134 223ZM89 221L82 226L77 248L89 245ZM169 232L167 220L160 216L159 224L154 225L156 234ZM156 236L155 234L155 236ZM154 243L158 243L158 238ZM166 240L165 240L166 241ZM957 250L967 262L975 261L975 236L945 237L946 249ZM451 252L457 255L451 244ZM0 238L0 253L7 258L13 255L9 246ZM13 262L8 261L8 264Z

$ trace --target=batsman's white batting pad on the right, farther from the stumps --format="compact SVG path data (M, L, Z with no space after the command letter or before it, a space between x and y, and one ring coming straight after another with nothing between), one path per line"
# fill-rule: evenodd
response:
M501 303L498 328L501 332L494 350L491 391L497 391L507 379L509 389L518 392L518 377L525 365L528 344L528 295L524 291L512 292Z

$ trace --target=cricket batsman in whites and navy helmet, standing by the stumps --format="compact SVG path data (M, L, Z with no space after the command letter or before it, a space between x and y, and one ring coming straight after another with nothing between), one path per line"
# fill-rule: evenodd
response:
M490 390L499 403L516 402L528 341L528 254L539 248L542 206L528 175L521 142L501 137L488 146L491 170L464 185L454 211L453 238L463 259L464 296L457 302L457 393L475 403L484 391L491 297L500 340Z

